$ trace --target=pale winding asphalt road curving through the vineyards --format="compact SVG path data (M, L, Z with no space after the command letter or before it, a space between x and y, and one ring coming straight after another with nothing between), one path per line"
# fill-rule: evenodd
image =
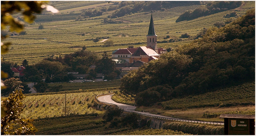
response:
M134 111L134 110L136 109L135 106L127 105L127 104L116 103L115 101L113 101L113 100L111 99L112 96L113 96L113 94L112 94L112 95L100 96L100 97L98 97L98 100L99 100L100 102L104 102L104 103L116 104L119 108L123 109L124 111L136 112L136 113L141 114L141 115L143 115L143 116L164 118L164 119L168 119L168 120L177 120L177 121L184 121L184 122L195 122L195 123L203 123L203 124L219 124L219 125L224 125L224 123L186 120L186 119L181 119L181 118L172 118L172 117L167 117L167 116L162 116L162 115L156 115L156 114L152 114L152 113L148 113L148 112Z

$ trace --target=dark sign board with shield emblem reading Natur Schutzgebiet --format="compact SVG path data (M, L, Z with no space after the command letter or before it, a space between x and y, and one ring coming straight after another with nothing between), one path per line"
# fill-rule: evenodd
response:
M229 135L249 135L249 119L229 118Z

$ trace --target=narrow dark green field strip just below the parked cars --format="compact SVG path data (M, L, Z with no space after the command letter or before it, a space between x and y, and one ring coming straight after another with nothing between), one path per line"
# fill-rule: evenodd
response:
M62 86L61 91L72 91L79 89L98 89L98 88L108 88L108 87L119 87L121 84L121 79L114 79L112 81L104 82L62 82L62 83L50 83L49 87Z

